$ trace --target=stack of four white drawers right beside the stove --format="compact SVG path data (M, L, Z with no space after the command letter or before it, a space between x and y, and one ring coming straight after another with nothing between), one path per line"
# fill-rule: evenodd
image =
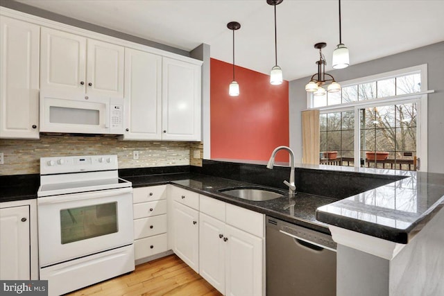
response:
M133 189L135 260L168 250L167 185Z

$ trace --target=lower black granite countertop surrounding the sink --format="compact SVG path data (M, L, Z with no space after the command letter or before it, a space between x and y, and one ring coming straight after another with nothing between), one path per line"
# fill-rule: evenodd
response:
M284 197L276 198L274 200L266 200L263 202L255 202L252 200L244 200L241 198L234 198L230 195L219 193L219 189L239 186L261 186L258 184L239 182L235 180L224 179L221 177L214 177L209 175L200 175L196 173L176 173L167 175L146 175L124 177L133 183L133 187L152 186L159 184L175 184L184 189L201 193L203 195L228 202L230 204L244 207L253 211L257 211L268 216L285 220L289 223L298 224L304 227L330 234L328 225L316 220L316 209L325 204L330 204L336 201L334 198L327 198L319 195L312 195L307 193L298 193L294 198L289 198L288 191L279 189ZM272 188L272 187L269 187ZM294 213L290 213L290 209L284 209L288 206L290 200L295 200Z

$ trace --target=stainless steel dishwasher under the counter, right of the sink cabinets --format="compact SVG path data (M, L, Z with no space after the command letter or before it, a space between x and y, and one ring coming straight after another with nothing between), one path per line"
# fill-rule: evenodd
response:
M267 216L266 295L336 295L332 237Z

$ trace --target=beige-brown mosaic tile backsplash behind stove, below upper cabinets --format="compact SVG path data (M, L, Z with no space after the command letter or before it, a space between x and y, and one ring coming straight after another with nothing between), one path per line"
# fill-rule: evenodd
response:
M198 143L196 143L198 144ZM0 175L40 173L40 157L117 155L119 168L182 166L190 164L190 142L119 141L115 137L78 137L40 134L40 140L0 139L4 164ZM139 159L133 159L133 150Z

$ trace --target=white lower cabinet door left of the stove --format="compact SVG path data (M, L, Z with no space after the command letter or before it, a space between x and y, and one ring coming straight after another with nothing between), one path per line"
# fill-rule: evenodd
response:
M29 207L0 209L0 279L30 279Z

